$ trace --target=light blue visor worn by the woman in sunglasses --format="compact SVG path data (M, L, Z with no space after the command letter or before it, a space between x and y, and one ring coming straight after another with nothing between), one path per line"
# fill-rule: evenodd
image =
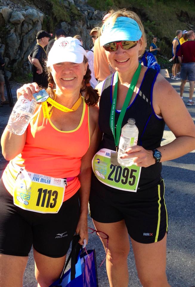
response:
M114 25L108 21L109 19L106 21L106 25L103 25L100 46L116 41L138 41L142 36L140 27L134 19L118 17Z

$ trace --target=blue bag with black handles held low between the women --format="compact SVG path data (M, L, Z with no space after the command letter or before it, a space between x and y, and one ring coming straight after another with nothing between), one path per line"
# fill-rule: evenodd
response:
M79 236L74 236L72 251L61 277L49 287L98 287L95 250L83 252L78 243L79 238ZM64 273L70 259L71 268Z

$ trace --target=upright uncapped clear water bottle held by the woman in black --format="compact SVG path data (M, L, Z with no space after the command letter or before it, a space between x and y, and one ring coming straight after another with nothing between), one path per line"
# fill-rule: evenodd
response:
M129 147L137 145L138 133L139 131L134 119L129 119L128 123L122 128L117 161L123 167L130 167L133 164L131 158L120 158L120 156L123 155Z

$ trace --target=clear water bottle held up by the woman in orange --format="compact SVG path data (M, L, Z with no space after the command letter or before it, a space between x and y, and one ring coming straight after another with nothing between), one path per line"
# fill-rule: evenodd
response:
M10 115L7 129L15 135L23 135L35 111L37 101L19 97Z

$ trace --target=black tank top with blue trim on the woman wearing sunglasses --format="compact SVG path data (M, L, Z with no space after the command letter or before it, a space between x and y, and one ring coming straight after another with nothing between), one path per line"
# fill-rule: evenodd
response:
M143 146L145 149L155 149L160 146L165 128L164 120L157 117L152 106L152 92L157 74L156 70L147 69L140 89L131 105L127 108L122 123L123 127L129 118L135 119L135 124L139 130L137 144ZM103 132L100 149L116 150L114 137L110 129L113 77L114 74L106 78L100 97L99 126ZM120 112L116 110L115 127L119 114ZM151 165L150 167L142 167L138 188L146 189L157 184L161 178L161 170L161 163Z

